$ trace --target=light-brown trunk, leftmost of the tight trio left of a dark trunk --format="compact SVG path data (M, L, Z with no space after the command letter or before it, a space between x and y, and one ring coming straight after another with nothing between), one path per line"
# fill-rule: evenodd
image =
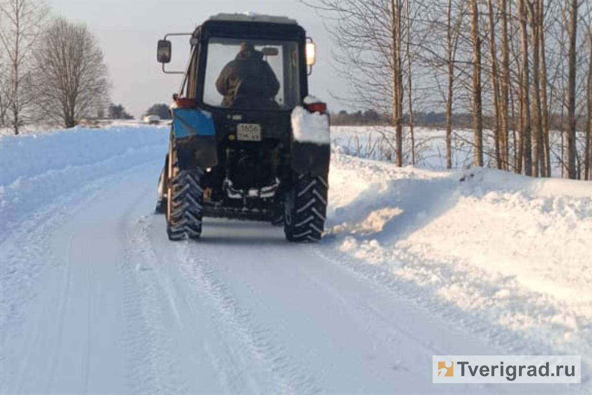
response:
M521 95L521 117L522 117L522 145L524 149L524 172L532 175L532 141L530 139L530 75L528 62L528 31L526 25L526 0L520 0L519 25L520 25L520 47L522 53L522 95Z

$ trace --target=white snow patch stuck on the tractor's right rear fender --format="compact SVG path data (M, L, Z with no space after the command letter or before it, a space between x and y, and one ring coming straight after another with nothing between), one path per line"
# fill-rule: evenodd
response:
M292 111L292 133L295 142L329 144L329 115L295 107Z

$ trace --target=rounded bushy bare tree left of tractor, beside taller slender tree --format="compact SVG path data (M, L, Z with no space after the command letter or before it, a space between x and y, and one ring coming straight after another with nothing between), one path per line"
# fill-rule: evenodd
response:
M36 51L36 76L41 111L65 127L96 114L107 99L107 66L85 25L53 21Z

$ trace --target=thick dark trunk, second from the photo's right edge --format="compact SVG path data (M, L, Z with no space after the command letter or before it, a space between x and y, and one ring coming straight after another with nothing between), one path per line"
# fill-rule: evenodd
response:
M567 94L567 171L571 179L577 178L575 168L575 157L577 148L575 146L575 45L578 34L578 0L570 0L570 27L568 29L570 36L570 49L568 53L569 75L568 75L568 94Z

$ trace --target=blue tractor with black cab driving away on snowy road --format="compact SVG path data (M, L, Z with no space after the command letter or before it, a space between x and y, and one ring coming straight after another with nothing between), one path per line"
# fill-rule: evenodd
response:
M269 221L291 242L321 239L329 116L308 93L314 43L294 20L219 14L193 33L181 73L156 211L170 240L199 239L204 217Z

